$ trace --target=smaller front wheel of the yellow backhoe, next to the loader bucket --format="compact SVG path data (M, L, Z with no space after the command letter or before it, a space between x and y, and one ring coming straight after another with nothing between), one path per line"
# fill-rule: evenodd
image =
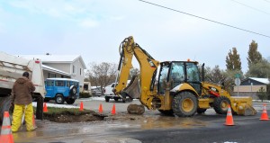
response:
M216 97L213 103L213 109L219 114L226 114L228 105L230 104L229 98L226 96Z

